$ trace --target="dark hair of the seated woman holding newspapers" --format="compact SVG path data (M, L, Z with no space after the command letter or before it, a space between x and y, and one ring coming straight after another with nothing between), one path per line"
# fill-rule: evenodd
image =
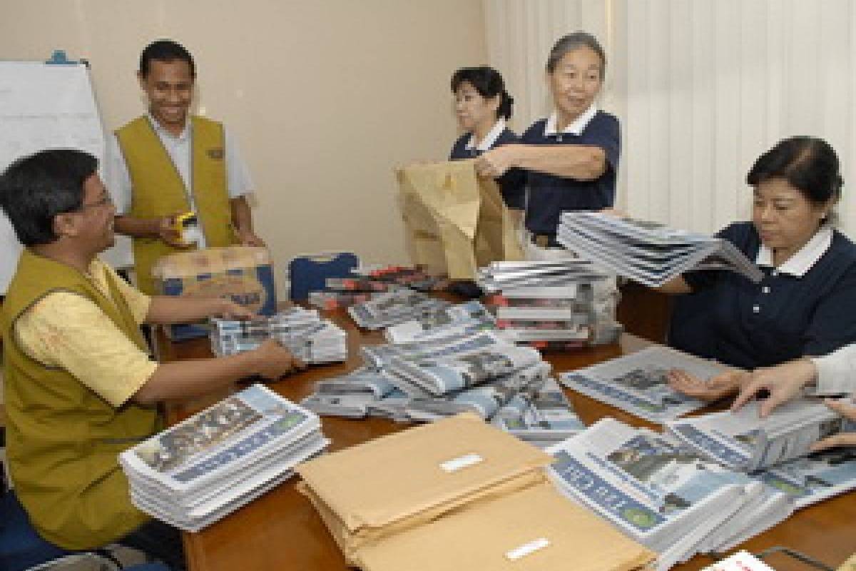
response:
M825 140L798 136L783 139L770 151L758 157L746 182L757 186L761 182L781 178L798 189L816 205L824 205L841 197L841 166L838 155Z

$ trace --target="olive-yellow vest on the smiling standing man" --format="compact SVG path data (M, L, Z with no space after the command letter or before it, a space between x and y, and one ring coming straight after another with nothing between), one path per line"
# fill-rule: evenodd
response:
M163 148L148 116L140 116L116 131L133 188L131 217L163 217L190 211L193 193L199 225L209 247L232 246L237 237L232 227L232 209L226 181L223 125L202 117L191 117L191 181L188 191L181 175ZM162 256L182 252L158 238L134 238L134 269L137 283L146 294L156 294L152 265Z

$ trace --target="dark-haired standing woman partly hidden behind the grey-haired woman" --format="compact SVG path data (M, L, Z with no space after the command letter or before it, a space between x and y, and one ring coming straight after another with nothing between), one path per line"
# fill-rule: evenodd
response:
M517 142L517 135L506 127L514 99L505 91L505 82L496 69L458 69L452 74L452 93L455 115L464 134L452 146L450 161L477 158L496 146ZM508 170L496 181L508 208L522 209L525 175L520 170Z

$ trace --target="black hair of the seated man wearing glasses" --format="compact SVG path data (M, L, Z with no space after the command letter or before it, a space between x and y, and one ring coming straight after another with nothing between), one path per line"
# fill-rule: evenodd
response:
M50 149L19 158L0 175L0 206L24 246L50 244L57 214L80 210L83 183L98 160L88 152Z

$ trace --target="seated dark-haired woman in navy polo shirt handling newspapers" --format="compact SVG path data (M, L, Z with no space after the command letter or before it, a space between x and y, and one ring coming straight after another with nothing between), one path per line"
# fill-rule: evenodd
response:
M792 137L765 152L746 175L752 222L719 232L764 271L752 283L730 271L691 271L661 290L675 304L669 343L741 369L828 354L856 342L856 245L833 229L843 181L824 140ZM727 372L708 383L672 372L681 392L712 400L748 375Z

